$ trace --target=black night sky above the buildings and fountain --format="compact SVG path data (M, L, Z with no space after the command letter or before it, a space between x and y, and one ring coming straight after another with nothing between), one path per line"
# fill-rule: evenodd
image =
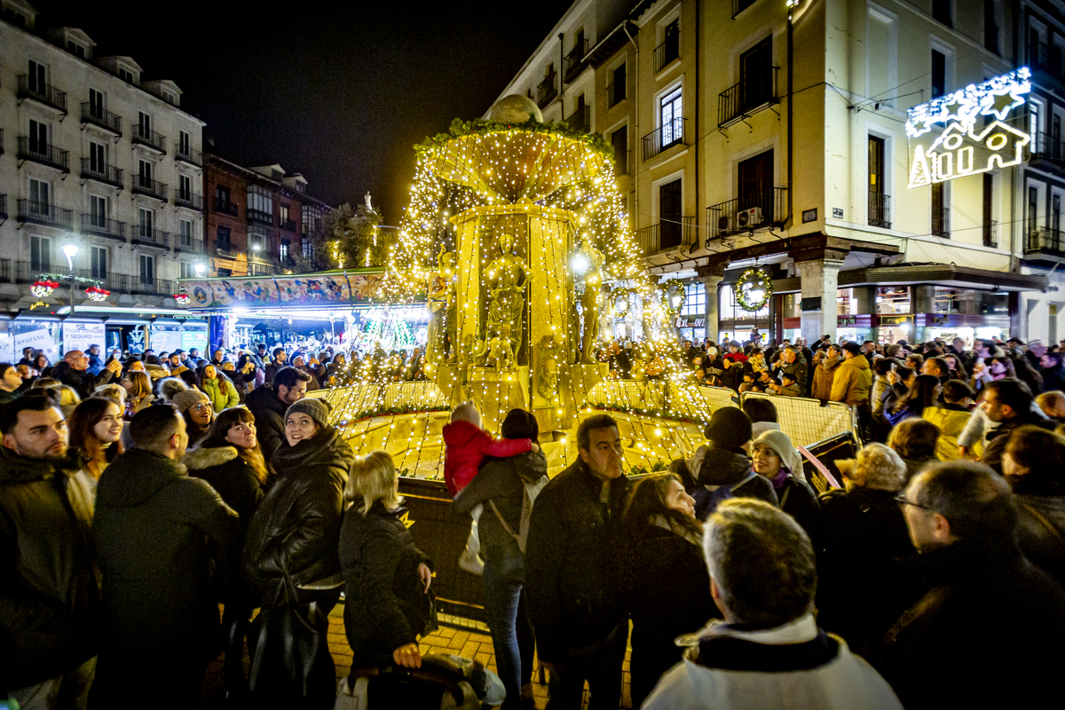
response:
M80 28L97 56L177 83L222 156L280 163L334 207L370 191L387 225L407 205L412 146L480 116L572 2L30 1L38 30Z

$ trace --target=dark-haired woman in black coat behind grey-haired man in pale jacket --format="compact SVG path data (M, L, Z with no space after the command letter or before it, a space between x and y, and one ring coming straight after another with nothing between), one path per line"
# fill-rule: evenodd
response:
M703 526L694 499L674 474L650 476L633 489L621 522L622 593L633 620L633 707L681 661L674 640L720 614L703 559Z

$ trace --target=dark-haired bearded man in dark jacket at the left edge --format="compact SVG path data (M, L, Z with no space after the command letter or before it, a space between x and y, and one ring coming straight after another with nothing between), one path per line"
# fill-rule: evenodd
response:
M71 505L67 427L34 391L0 410L0 691L51 707L62 687L84 707L96 665L100 597L87 511Z

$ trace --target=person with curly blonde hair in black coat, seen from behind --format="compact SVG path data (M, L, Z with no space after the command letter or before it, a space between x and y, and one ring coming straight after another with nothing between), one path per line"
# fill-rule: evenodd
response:
M906 464L887 446L867 444L837 465L845 488L821 494L818 625L868 654L913 601L898 562L915 552L896 501Z

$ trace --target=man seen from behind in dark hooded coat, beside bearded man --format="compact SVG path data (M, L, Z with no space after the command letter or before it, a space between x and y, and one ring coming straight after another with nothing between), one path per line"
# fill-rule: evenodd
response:
M153 707L192 707L222 649L213 577L239 554L239 519L176 461L189 443L177 410L137 412L130 437L133 448L108 466L97 488L105 631L92 701L130 707L150 697Z

